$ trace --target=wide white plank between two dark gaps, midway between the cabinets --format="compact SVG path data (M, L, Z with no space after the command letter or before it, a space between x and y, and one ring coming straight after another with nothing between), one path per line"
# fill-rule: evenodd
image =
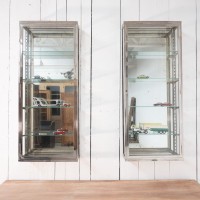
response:
M119 179L120 1L92 4L91 177Z

